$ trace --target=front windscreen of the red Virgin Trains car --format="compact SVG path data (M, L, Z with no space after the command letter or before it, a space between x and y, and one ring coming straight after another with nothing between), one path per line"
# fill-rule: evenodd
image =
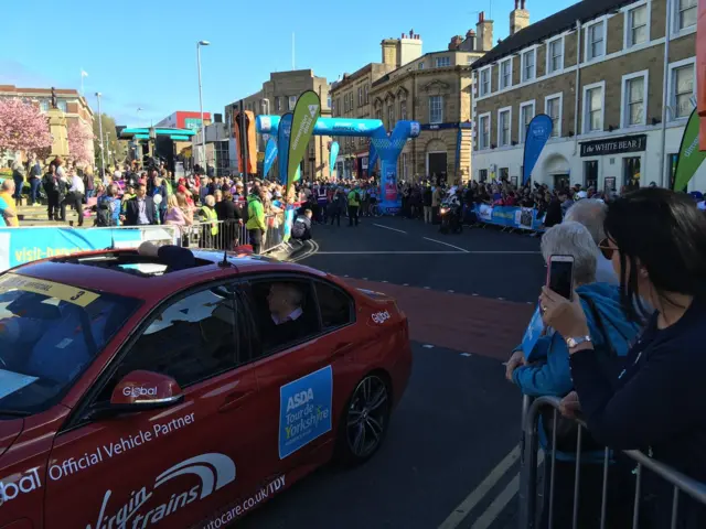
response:
M53 404L139 304L64 283L0 276L0 417Z

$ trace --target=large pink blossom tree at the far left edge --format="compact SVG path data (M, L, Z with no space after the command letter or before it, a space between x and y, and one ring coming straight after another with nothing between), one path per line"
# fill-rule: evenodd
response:
M18 98L0 99L0 154L43 154L51 147L49 122L39 107Z

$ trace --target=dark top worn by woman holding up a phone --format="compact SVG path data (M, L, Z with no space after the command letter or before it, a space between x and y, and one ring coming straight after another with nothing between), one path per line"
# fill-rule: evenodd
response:
M652 456L706 482L706 345L703 327L706 300L694 300L674 325L656 328L656 315L625 357L624 370L609 380L593 350L570 357L571 377L596 441L614 449L642 449ZM672 487L648 477L653 494L649 518L653 527L670 527ZM680 496L680 529L706 527L706 507ZM642 517L641 517L642 519Z

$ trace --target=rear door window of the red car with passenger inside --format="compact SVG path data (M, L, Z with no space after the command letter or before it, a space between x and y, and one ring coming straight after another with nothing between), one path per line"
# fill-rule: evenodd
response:
M253 328L250 360L287 349L320 333L311 281L277 278L242 285Z

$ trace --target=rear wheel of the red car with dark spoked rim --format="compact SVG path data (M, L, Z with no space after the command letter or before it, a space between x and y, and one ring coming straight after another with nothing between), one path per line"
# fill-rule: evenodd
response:
M351 465L370 460L383 444L392 411L389 386L367 375L351 395L340 429L340 458Z

